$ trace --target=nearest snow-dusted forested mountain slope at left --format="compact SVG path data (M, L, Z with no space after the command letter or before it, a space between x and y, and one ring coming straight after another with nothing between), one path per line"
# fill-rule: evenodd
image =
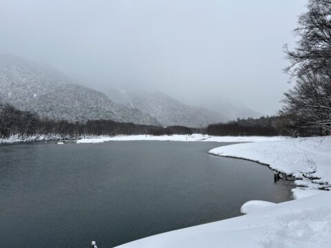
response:
M54 119L103 118L159 125L150 115L114 103L105 94L78 85L54 68L7 54L0 55L0 102Z

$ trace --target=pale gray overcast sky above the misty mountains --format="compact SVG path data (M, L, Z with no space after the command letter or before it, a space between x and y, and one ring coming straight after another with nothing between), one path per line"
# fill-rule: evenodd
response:
M303 0L0 0L0 53L44 61L90 87L159 90L264 114L290 87L283 43Z

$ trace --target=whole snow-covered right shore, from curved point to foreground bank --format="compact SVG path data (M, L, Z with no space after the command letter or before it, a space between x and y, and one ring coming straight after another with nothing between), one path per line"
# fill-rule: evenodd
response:
M150 236L118 248L331 247L331 192L316 189L322 187L319 183L330 186L331 136L228 145L210 154L268 164L293 174L298 178L295 183L308 190L292 189L296 200L279 204L252 199L241 208L245 216Z

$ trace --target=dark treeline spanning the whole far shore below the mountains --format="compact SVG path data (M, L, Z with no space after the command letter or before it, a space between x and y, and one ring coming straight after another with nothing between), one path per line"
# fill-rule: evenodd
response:
M1 141L15 136L19 141L29 137L77 138L80 136L115 136L115 135L171 135L171 134L210 134L214 136L279 136L287 135L282 127L282 118L278 116L258 119L237 119L229 123L218 123L204 128L183 126L161 127L155 125L137 125L110 120L90 120L86 122L69 122L42 118L37 113L18 110L8 104L0 104L0 138Z

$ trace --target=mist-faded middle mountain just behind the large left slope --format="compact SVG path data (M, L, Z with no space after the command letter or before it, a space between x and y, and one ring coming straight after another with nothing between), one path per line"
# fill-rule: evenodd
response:
M204 107L186 105L160 92L109 89L105 91L105 94L117 103L135 107L141 112L149 114L164 126L206 127L211 123L229 120L219 112Z

